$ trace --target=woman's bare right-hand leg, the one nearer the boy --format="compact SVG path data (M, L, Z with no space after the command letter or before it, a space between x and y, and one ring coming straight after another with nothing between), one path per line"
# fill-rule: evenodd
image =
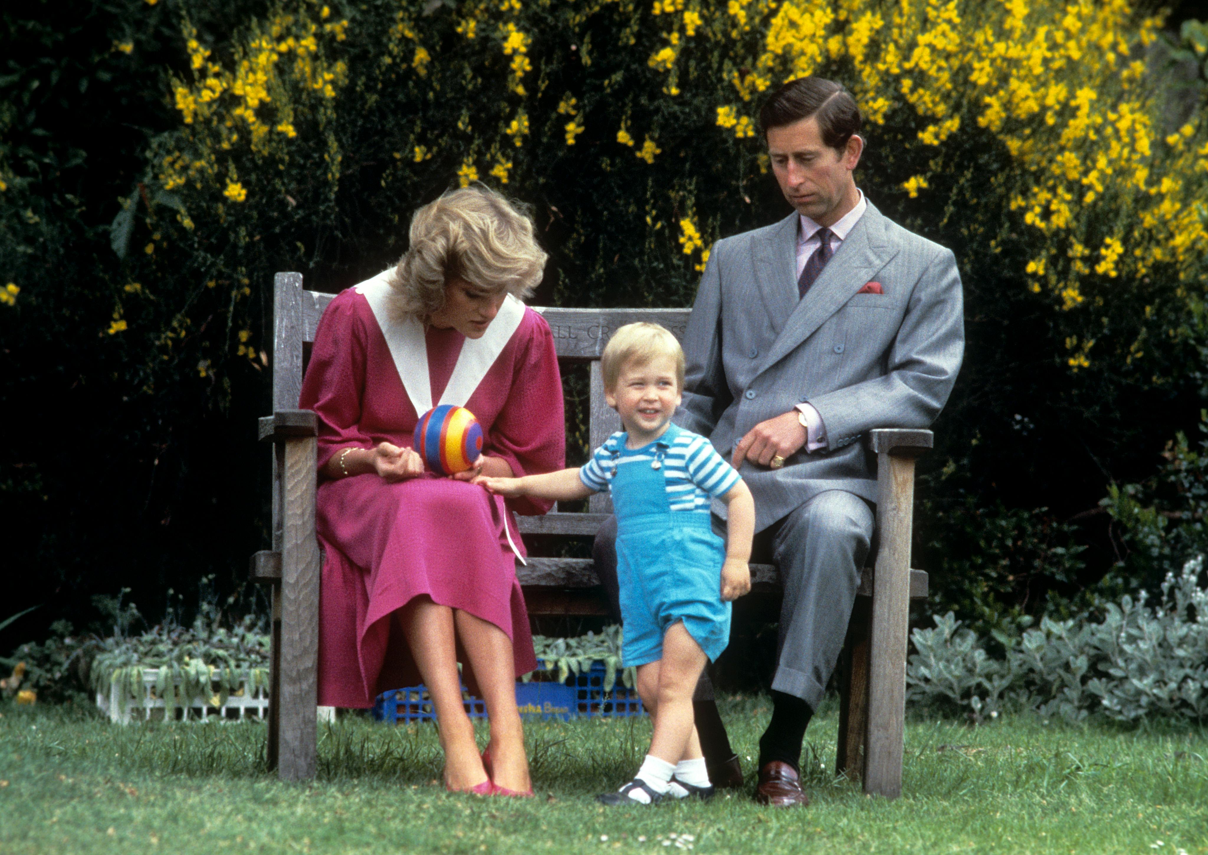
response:
M487 704L494 781L517 792L530 790L533 783L529 780L528 757L524 756L524 729L516 708L512 640L494 623L460 609L453 611L453 622Z

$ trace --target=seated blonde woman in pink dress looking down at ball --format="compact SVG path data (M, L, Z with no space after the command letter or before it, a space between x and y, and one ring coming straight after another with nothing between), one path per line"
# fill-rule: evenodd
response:
M515 681L536 658L512 511L548 505L505 504L470 479L564 465L553 337L519 299L545 260L504 197L446 193L416 213L396 267L331 301L302 384L300 406L319 417L319 703L366 708L422 679L449 790L532 791ZM451 478L425 472L412 448L419 417L440 403L469 408L483 430L475 467ZM459 662L486 700L489 775Z

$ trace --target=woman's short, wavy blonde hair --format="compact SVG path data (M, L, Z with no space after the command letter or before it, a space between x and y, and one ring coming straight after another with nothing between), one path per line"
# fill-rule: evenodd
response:
M452 190L411 217L411 248L389 278L401 315L428 318L445 306L452 279L524 299L548 257L524 205L476 184Z

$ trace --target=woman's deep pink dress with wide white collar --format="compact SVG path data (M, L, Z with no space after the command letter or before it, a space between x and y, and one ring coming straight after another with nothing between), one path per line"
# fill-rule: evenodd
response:
M319 417L320 470L348 447L411 447L419 415L451 394L465 397L455 402L482 424L484 454L507 460L517 476L562 469L562 382L545 320L510 299L486 347L454 330L408 332L381 299L371 304L381 284L376 277L337 295L315 333L298 406ZM548 508L528 499L505 505L481 487L431 473L397 483L320 475L319 703L371 706L381 692L419 681L397 612L422 595L494 623L512 639L516 674L533 670L515 564L524 545L512 511Z

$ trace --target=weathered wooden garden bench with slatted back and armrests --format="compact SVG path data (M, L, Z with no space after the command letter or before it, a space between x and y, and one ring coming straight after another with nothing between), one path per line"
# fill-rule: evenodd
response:
M300 273L274 283L273 414L260 419L261 441L273 443L273 548L257 552L251 577L272 586L272 677L268 762L281 779L312 778L315 767L319 646L319 546L315 539L315 415L297 409L302 372L319 318L333 295L306 291ZM683 338L687 309L538 308L557 343L558 359L591 363L590 434L598 447L620 419L604 402L599 357L623 324L655 321ZM901 792L907 617L911 599L927 597L928 578L910 569L914 458L931 447L927 430L873 430L878 460L876 566L864 570L841 662L836 768L861 779L865 792ZM610 513L608 495L586 513L519 517L524 534L591 537ZM529 612L605 613L602 598L585 598L599 580L588 558L529 558L517 565ZM751 589L774 593L773 565L751 565ZM590 603L585 607L585 599Z

